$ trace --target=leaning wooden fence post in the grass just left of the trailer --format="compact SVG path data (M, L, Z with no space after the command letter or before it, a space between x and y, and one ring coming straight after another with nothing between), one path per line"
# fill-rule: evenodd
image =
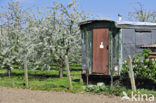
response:
M67 76L68 76L68 85L69 85L69 90L72 91L72 80L70 76L70 70L69 70L69 61L68 61L68 56L65 56L65 65L66 65L66 70L67 70Z

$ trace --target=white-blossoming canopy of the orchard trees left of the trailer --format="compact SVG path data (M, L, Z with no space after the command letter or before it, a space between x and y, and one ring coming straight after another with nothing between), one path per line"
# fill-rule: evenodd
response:
M24 9L11 1L0 11L0 66L14 68L27 62L30 69L64 68L64 56L72 63L80 63L81 40L79 22L88 17L78 10L76 1L63 5L53 2L51 7ZM44 12L42 12L44 11ZM60 74L62 76L62 74Z

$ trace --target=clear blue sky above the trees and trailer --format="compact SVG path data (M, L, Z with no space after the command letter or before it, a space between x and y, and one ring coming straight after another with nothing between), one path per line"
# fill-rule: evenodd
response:
M7 5L10 0L0 0L0 6ZM71 0L17 0L25 8L52 5L53 1L67 4ZM136 2L141 2L145 9L156 10L156 0L77 0L80 10L100 15L106 19L117 20L118 13L127 20L128 12L133 11Z

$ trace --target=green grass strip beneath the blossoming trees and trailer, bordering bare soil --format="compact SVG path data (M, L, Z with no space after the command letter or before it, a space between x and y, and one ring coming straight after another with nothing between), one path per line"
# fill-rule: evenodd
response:
M131 95L131 90L126 89L123 86L114 86L113 89L110 86L94 86L88 90L84 90L85 84L81 82L81 66L70 66L73 90L68 90L68 78L67 72L64 71L63 78L59 78L59 71L55 68L52 70L29 70L29 89L32 90L55 90L55 91L66 91L66 92L81 92L88 91L93 93L103 93L106 95L117 95L122 96L122 92L125 91L128 95ZM0 69L0 86L4 87L17 87L26 88L24 81L24 70L23 69L12 69L11 77L7 76L7 69ZM138 89L142 94L153 94L156 97L155 90Z

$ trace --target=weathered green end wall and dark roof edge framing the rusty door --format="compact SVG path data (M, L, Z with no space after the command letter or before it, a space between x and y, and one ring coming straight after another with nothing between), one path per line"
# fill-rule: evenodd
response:
M82 46L85 48L82 48L83 55L82 58L85 60L85 62L82 61L82 65L85 65L82 67L83 72L86 71L86 69L89 69L89 74L92 74L92 67L93 67L93 29L94 28L108 28L109 29L109 74L118 75L119 70L117 72L114 71L114 67L117 66L120 67L120 57L121 57L121 36L120 36L120 30L115 27L115 24L113 22L92 22L89 24L81 25L81 34L82 34Z

